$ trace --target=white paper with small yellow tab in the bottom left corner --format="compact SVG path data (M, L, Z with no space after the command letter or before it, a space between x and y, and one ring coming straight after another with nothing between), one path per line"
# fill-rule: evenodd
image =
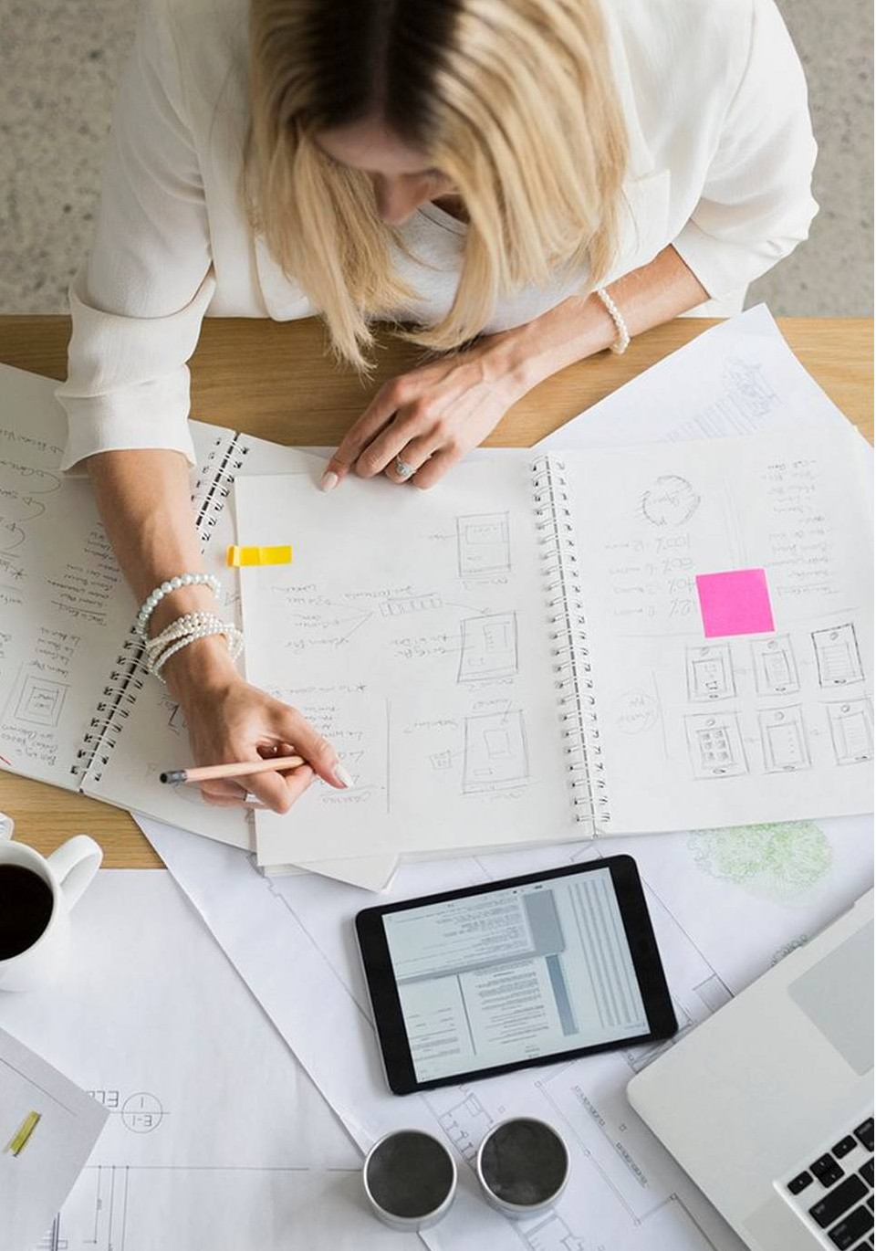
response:
M9 996L0 992L2 1002ZM42 1040L34 1040L41 1045ZM0 1030L0 1246L31 1251L91 1153L107 1113ZM36 1120L34 1120L36 1117Z

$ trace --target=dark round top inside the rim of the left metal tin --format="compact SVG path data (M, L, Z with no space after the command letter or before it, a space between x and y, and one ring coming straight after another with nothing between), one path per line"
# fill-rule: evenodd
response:
M454 1183L454 1166L440 1142L400 1130L369 1160L369 1190L385 1212L417 1217L434 1212Z

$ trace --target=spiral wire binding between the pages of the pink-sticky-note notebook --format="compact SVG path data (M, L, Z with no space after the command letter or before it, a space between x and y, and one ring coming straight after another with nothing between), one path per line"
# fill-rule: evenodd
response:
M594 694L581 577L575 552L569 482L561 460L532 462L535 525L542 548L547 622L574 819L611 818ZM595 831L597 833L597 831Z

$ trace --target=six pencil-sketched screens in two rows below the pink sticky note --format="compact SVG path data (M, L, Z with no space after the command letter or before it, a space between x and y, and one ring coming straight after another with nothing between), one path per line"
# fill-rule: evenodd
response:
M685 734L696 778L810 769L819 738L829 744L825 763L874 758L874 708L854 622L805 637L689 647L685 672ZM732 701L744 701L742 712L729 707Z

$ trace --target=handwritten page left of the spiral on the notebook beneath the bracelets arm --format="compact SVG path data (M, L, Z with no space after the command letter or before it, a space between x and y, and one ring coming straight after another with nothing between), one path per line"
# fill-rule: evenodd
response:
M87 479L57 469L55 387L0 365L0 769L76 789L135 604Z

